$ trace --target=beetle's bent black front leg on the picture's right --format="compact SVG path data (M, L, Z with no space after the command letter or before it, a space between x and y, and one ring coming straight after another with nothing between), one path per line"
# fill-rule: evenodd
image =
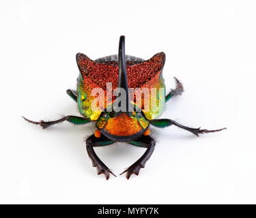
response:
M138 176L139 170L141 170L141 168L145 168L145 163L147 162L148 159L150 159L150 157L154 151L155 145L156 145L155 140L153 138L151 138L150 136L141 136L137 140L134 140L134 141L128 142L128 143L132 144L134 146L140 146L143 148L147 148L147 150L141 156L140 159L138 159L135 163L133 163L129 168L124 170L124 172L122 172L122 174L124 174L126 172L127 179L129 179L132 174L136 174Z

